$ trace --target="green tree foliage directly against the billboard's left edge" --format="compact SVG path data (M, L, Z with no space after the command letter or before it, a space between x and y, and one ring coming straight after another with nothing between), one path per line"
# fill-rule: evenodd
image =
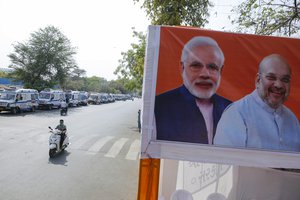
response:
M133 29L133 37L137 43L131 44L131 49L122 52L122 59L114 74L122 79L126 90L141 90L143 84L144 57L146 49L146 35Z

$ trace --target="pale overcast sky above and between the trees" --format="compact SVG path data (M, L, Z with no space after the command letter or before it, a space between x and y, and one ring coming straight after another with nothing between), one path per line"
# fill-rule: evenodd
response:
M232 4L219 0L215 5L218 15L212 11L209 27L218 30ZM87 76L116 79L113 72L121 52L135 42L131 28L146 32L149 24L133 0L0 0L0 68L10 64L12 44L26 42L30 33L53 25L77 47L76 62Z

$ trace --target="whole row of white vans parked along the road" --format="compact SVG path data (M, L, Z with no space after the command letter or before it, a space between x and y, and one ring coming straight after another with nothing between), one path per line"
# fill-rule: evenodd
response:
M120 96L122 98L120 99ZM0 91L0 112L35 111L36 109L60 108L66 103L68 107L86 106L88 104L111 103L115 100L132 99L125 94L88 93L85 91L45 89L38 92L35 89L16 89Z

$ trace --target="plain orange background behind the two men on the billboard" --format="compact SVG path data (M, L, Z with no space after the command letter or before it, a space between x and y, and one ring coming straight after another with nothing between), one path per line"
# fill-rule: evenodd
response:
M236 34L188 27L161 27L156 94L182 84L180 57L184 44L194 36L217 41L225 56L221 85L217 93L236 101L255 88L258 64L277 53L292 68L291 93L285 103L300 119L300 39Z

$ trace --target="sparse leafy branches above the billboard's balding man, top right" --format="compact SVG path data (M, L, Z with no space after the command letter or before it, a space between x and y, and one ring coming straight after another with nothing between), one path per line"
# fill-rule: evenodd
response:
M232 23L239 32L292 36L300 29L298 0L245 0L235 11L238 18Z

